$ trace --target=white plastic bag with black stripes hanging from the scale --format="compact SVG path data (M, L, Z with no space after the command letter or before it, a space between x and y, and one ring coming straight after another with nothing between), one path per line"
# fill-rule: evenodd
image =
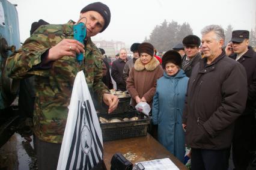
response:
M102 130L84 72L79 71L73 86L57 169L92 169L102 159Z

